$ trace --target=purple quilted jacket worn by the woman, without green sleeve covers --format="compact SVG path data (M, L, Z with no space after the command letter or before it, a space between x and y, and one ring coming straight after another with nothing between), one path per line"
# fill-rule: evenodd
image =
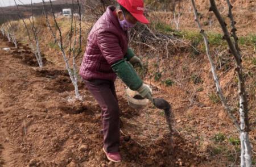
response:
M80 76L84 80L114 81L117 77L111 65L123 59L126 54L128 36L122 30L114 10L114 6L109 6L89 33L80 66Z

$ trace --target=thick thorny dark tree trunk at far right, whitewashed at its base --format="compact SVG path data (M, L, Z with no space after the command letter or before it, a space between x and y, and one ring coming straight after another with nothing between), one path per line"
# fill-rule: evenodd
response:
M247 95L245 90L245 80L242 74L242 60L240 51L238 48L238 37L236 36L236 27L234 27L234 19L232 15L232 6L230 5L229 1L227 1L229 6L229 18L232 24L232 36L234 37L234 43L230 39L230 35L228 32L228 28L226 27L226 23L222 18L220 12L217 9L216 3L214 0L210 0L210 9L209 11L213 11L214 15L218 19L218 22L221 25L222 31L224 32L224 37L228 43L230 52L234 56L236 60L236 72L238 77L238 96L240 101L240 128L242 132L240 133L240 141L241 141L241 166L251 167L251 145L249 140L249 118L248 118L248 103L247 103Z

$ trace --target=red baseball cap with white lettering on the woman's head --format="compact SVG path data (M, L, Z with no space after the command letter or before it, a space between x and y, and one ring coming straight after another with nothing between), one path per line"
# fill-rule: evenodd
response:
M144 2L143 0L117 0L117 2L125 7L131 15L134 16L139 22L148 24L150 23L148 19L143 15L144 12Z

